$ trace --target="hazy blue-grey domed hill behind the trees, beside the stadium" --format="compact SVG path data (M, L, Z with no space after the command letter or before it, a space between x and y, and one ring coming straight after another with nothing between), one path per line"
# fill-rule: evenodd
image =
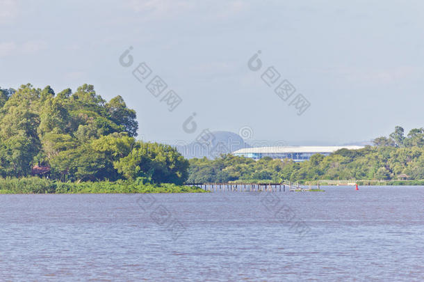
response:
M194 157L215 159L215 157L219 157L221 154L234 152L241 148L250 148L251 146L240 135L234 132L215 131L202 132L196 141L175 147L186 159L192 159Z

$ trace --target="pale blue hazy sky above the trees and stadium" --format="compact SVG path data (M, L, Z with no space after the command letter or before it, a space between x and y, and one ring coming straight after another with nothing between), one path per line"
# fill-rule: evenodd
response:
M0 0L0 87L92 84L136 110L148 141L193 141L203 130L291 145L366 141L396 125L424 126L423 9L423 1ZM277 95L284 81L295 91Z

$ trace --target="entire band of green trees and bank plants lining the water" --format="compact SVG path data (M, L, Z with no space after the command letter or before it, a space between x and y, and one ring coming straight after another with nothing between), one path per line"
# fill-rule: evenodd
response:
M304 162L231 154L186 159L173 146L136 140L137 132L136 111L120 95L104 100L89 84L59 93L31 84L0 87L0 193L184 193L204 191L184 183L338 179L424 185L423 127L405 136L398 126L374 146Z

